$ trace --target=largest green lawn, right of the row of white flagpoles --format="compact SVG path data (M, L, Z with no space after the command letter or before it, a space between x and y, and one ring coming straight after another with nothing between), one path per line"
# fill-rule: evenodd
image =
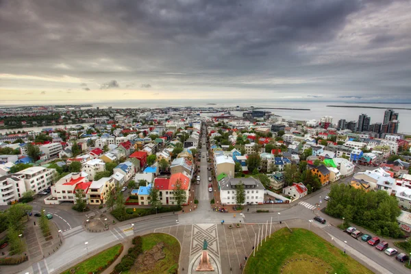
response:
M296 228L275 232L248 259L244 273L280 273L283 267L283 273L295 274L373 273L323 238Z

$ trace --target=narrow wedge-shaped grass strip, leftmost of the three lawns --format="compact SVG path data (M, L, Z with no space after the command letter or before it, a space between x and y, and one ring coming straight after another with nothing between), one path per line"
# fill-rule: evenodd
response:
M119 255L121 251L121 247L123 245L114 245L114 247L110 247L109 249L105 249L101 251L95 256L80 262L79 264L67 269L66 271L62 272L62 274L70 274L71 269L75 269L75 274L88 274L88 273L97 273L97 271L106 269L110 264L109 261L114 262L114 258Z

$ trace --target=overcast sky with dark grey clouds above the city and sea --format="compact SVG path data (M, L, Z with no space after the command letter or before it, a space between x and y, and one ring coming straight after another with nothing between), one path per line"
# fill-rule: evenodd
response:
M411 101L411 2L0 0L0 97Z

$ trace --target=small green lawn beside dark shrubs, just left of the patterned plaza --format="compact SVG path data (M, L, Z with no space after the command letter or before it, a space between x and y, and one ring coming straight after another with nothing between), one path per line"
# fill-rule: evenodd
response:
M169 234L162 233L152 233L142 236L142 250L149 251L158 242L164 243L164 254L165 258L159 260L151 269L146 271L136 271L132 269L129 273L138 273L138 274L158 274L158 273L174 273L174 269L178 269L178 260L180 253L180 245L176 238L170 236Z

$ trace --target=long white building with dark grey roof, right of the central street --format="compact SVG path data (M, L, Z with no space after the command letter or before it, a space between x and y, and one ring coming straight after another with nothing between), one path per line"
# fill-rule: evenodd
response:
M234 178L230 175L219 181L220 199L222 205L235 205L236 189L239 184L244 184L245 204L261 204L264 202L264 186L253 177Z

